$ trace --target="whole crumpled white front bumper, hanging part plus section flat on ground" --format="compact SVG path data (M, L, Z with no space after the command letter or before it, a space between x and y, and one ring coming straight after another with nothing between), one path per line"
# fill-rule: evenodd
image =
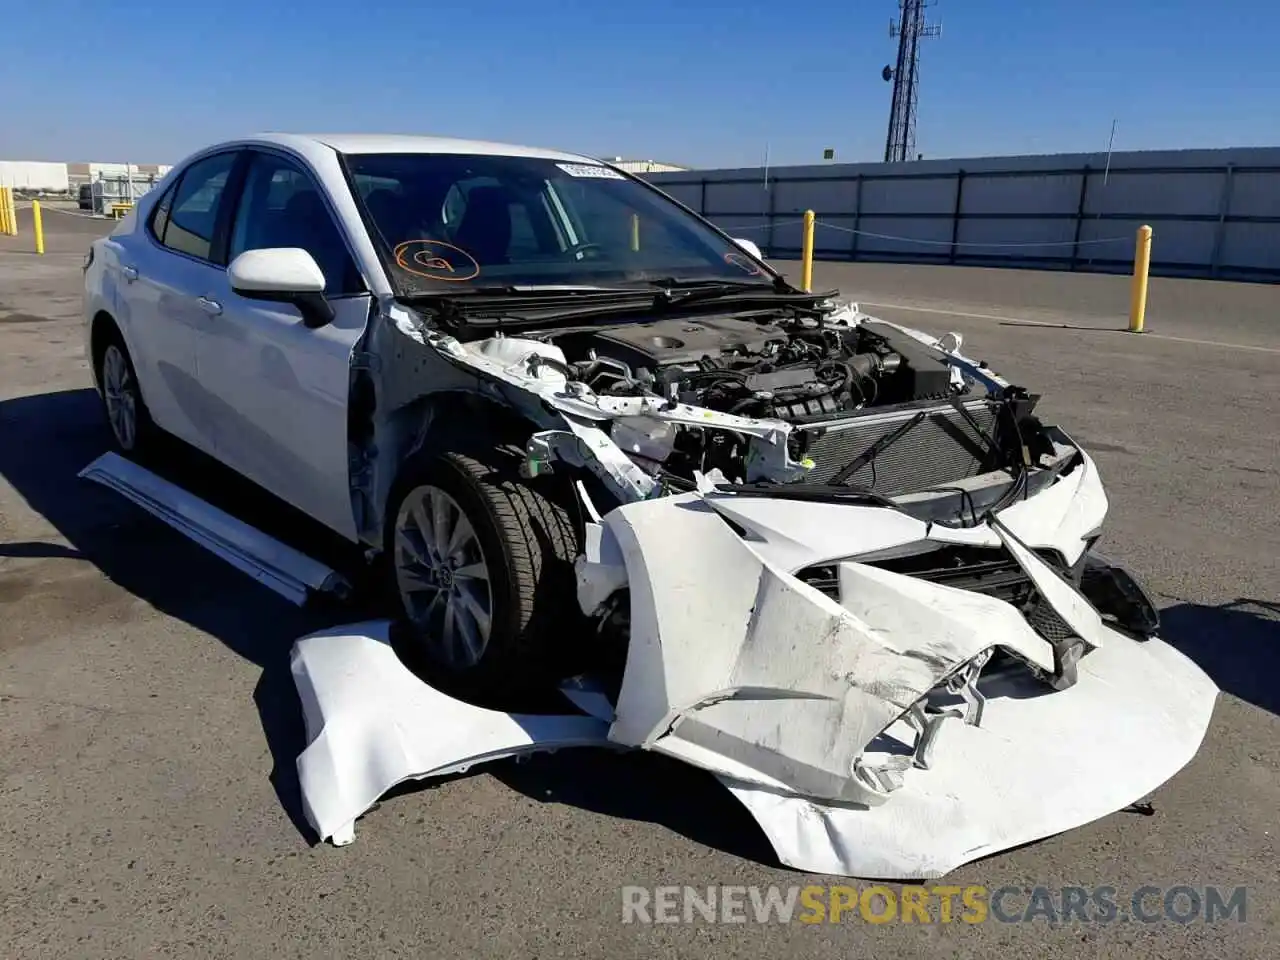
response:
M828 530L846 509L828 512ZM1037 524L1046 529L1043 517L1021 526ZM931 539L924 525L896 535ZM588 588L621 568L630 589L609 739L719 776L783 861L884 878L936 877L1070 829L1185 765L1212 714L1212 681L1160 640L1107 626L998 518L969 536L1001 544L1070 627L1084 654L1074 684L1044 682L1061 673L1061 649L995 596L842 561L837 603L704 498L613 511L580 564ZM913 708L992 648L1014 668L977 682L980 719L933 708L922 762L922 727L909 719L924 714Z

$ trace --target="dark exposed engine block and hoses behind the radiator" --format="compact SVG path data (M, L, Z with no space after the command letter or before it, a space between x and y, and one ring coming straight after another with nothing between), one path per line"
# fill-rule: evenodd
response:
M877 324L676 317L554 339L596 393L652 393L792 422L941 399L950 384L941 356Z

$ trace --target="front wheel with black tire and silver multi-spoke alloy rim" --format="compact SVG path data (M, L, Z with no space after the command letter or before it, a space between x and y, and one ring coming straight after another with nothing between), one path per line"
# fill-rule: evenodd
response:
M556 479L521 477L500 451L447 452L406 465L388 498L384 571L408 645L471 694L554 678L575 645L579 536L545 484ZM422 548L438 526L448 531L443 547L456 549L431 557Z

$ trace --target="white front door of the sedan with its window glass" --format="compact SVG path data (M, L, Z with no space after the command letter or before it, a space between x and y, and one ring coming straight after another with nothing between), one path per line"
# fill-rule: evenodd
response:
M324 191L297 160L251 151L229 219L227 262L247 250L301 247L325 275L333 323L310 329L292 303L247 300L225 273L201 332L200 379L228 398L212 419L219 460L356 539L347 454L351 353L371 297Z

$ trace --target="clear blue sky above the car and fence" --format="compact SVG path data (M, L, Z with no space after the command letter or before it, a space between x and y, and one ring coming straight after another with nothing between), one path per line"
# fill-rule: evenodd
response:
M10 0L0 157L276 131L699 166L883 154L896 0ZM927 157L1280 143L1276 0L938 0ZM118 46L110 40L116 37Z

